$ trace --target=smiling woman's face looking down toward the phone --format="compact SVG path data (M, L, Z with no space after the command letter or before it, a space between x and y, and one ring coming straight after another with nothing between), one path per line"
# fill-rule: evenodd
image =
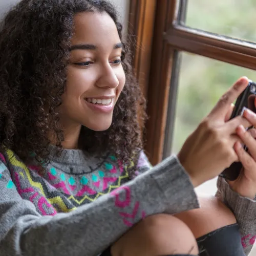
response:
M84 125L104 131L111 125L125 83L122 45L113 19L106 13L77 14L71 45L60 121L64 129Z

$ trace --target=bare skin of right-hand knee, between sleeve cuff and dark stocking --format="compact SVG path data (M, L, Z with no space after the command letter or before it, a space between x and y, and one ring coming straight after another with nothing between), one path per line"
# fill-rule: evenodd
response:
M199 238L224 226L237 223L232 211L218 198L200 194L200 208L175 215Z

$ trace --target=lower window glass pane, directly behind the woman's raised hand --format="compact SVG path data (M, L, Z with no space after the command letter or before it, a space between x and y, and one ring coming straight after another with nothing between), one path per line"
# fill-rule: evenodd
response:
M178 153L188 135L240 77L256 81L256 71L200 55L182 52L176 107L173 153Z

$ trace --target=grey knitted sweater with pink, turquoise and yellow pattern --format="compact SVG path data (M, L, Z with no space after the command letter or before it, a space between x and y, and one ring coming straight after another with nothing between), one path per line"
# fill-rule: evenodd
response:
M0 160L1 256L96 256L146 216L199 207L175 156L151 167L142 152L133 180L129 166L115 156L98 159L79 150L52 154L43 174L10 150ZM256 237L256 204L223 179L218 186L217 196L236 215L248 253Z

